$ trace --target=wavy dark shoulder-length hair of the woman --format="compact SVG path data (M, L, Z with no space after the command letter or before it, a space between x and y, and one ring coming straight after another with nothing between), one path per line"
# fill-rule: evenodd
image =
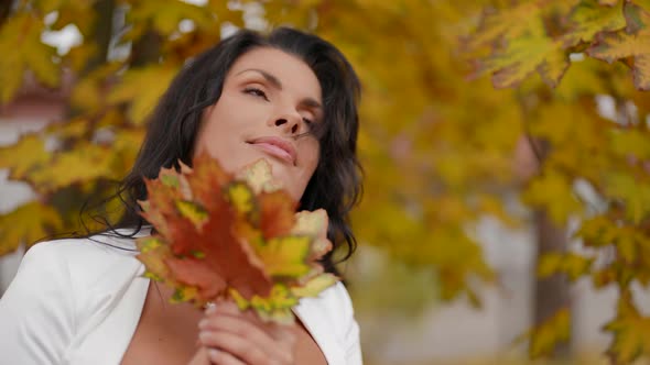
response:
M322 208L329 215L327 235L335 250L323 258L326 270L335 272L332 254L337 247L347 245L340 261L353 254L356 240L349 211L361 195L361 168L357 159L360 84L350 64L331 43L288 27L268 35L241 30L185 65L149 117L140 153L119 185L117 196L126 213L119 223L109 224L111 234L117 234L117 229L134 228L129 235L132 236L148 224L139 214L137 203L137 200L147 199L143 178L155 178L161 167L177 167L178 161L191 166L205 108L219 99L226 75L235 62L259 47L272 47L299 57L321 84L324 112L324 123L319 123L322 128L317 131L321 157L301 198L300 209Z

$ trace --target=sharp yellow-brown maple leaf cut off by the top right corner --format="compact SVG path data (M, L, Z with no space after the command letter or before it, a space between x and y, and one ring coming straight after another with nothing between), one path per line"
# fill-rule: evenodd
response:
M642 5L640 3L643 3ZM592 57L614 63L631 58L635 85L650 90L650 3L626 1L624 7L627 26L616 32L603 32L587 49Z

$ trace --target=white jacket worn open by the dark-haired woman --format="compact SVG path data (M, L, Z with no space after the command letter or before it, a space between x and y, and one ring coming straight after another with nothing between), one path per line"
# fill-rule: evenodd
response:
M0 298L0 364L119 364L150 283L136 254L133 240L105 235L31 247ZM329 364L361 364L340 283L302 299L294 313Z

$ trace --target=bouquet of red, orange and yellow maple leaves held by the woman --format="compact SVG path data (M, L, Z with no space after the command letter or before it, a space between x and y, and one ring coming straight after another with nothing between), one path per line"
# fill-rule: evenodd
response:
M234 176L204 154L145 184L139 203L155 233L137 240L137 257L145 277L175 288L173 302L232 299L266 321L293 323L300 298L338 280L318 263L332 250L327 213L296 213L264 159Z

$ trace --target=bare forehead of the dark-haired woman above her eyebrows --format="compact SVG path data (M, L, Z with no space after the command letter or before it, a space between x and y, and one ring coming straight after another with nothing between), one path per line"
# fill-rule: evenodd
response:
M227 79L260 76L252 70L262 70L274 76L283 88L300 93L300 97L322 99L321 84L314 71L302 59L284 51L271 47L251 49L235 62Z

